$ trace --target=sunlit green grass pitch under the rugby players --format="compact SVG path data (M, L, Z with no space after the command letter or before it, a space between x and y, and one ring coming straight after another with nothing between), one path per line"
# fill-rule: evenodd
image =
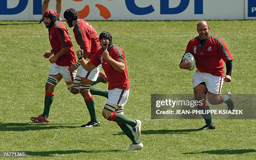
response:
M94 96L101 126L80 127L90 116L81 95L70 94L64 81L55 89L51 123L32 123L29 118L44 108L51 66L43 58L51 49L48 30L37 22L0 22L0 151L25 151L26 158L6 159L26 160L254 160L254 119L214 119L216 130L197 131L203 119L150 118L151 94L193 93L193 71L179 69L179 62L187 42L197 36L197 22L90 21L98 33L108 30L125 51L131 86L125 115L143 124L144 148L132 152L123 152L130 140L116 123L101 116L103 97ZM256 94L256 21L209 21L209 25L234 57L233 81L223 85L222 93ZM77 50L72 29L69 32ZM107 89L106 84L95 86Z

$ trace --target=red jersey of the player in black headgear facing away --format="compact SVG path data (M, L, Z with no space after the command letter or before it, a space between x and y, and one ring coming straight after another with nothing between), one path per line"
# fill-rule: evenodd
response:
M87 58L92 58L92 55L100 49L99 36L96 30L86 21L79 19L73 32L80 48L84 52L90 52Z

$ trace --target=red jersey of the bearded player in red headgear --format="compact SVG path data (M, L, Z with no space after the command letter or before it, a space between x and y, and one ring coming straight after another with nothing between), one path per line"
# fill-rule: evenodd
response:
M69 51L55 62L58 66L70 66L76 63L76 56L69 31L63 23L55 22L54 25L49 28L49 41L54 55L58 53L61 48L71 46Z

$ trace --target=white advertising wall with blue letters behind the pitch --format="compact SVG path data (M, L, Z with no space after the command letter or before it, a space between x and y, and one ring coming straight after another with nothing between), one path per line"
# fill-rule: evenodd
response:
M0 0L0 20L39 20L43 0ZM62 0L86 20L256 19L256 0ZM51 0L49 9L56 9Z

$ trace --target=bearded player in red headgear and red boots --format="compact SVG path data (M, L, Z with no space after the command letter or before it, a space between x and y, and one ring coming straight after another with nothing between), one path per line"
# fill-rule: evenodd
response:
M48 79L45 85L44 112L38 117L31 117L33 122L49 123L49 112L54 101L54 88L64 78L69 91L73 90L73 82L76 71L70 72L69 66L76 63L73 44L67 27L57 21L57 13L54 10L44 12L44 24L49 30L51 51L44 53L44 58L50 58L52 63ZM52 56L53 55L53 56Z

